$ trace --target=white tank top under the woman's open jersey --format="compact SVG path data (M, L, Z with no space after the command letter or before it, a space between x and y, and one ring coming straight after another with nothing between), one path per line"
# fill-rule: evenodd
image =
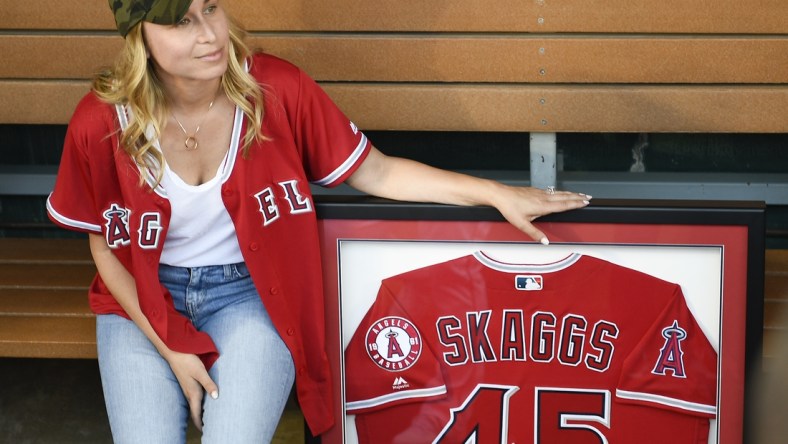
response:
M222 202L227 157L213 179L196 186L184 182L165 162L161 184L167 191L172 216L161 263L204 267L243 262L235 226Z

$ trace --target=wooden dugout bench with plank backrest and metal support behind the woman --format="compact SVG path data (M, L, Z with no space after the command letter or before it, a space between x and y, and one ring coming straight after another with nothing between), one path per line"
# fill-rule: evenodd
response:
M530 133L530 177L503 178L515 183L619 197L621 183L558 176L556 133L788 132L784 0L226 4L251 46L301 66L364 130ZM66 124L122 44L106 1L0 10L0 124ZM0 195L45 196L54 175L0 165ZM788 203L788 184L739 185L737 198ZM95 358L85 240L2 238L0 264L0 356ZM767 252L765 277L768 357L787 250Z

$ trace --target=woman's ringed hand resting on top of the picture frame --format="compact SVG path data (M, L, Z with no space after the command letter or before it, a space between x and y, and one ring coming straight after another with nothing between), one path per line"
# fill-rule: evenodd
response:
M591 196L569 191L542 190L532 187L513 187L499 184L493 198L493 206L509 223L545 245L547 236L533 225L534 219L551 213L583 208Z

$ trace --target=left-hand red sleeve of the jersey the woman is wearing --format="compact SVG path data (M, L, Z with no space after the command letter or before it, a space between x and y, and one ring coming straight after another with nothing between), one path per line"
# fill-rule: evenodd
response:
M111 152L110 129L100 112L98 99L91 93L77 106L69 122L63 144L55 187L47 199L49 218L62 228L87 233L101 233L101 219L96 211L94 177L98 153ZM95 153L95 156L88 156Z

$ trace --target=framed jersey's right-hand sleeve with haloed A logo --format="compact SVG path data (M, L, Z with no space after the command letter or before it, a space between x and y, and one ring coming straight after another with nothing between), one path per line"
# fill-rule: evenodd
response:
M669 304L624 362L617 398L712 418L717 353L676 285Z

